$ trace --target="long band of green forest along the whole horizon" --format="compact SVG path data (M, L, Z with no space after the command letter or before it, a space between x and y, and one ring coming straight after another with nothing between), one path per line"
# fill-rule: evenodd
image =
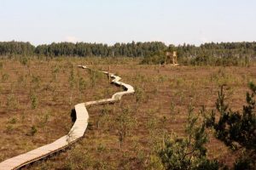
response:
M165 59L166 51L177 51L182 64L191 65L236 65L239 59L249 62L256 56L256 42L220 42L195 45L169 45L164 42L103 43L58 42L33 46L30 42L0 42L0 55L44 56L97 56L97 57L143 57L144 64L158 64Z

